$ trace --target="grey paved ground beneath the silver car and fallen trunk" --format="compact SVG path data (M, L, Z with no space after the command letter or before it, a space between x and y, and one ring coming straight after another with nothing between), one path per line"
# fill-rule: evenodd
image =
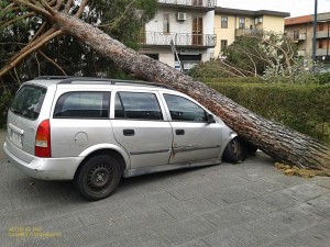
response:
M124 179L98 202L0 159L0 198L1 247L330 246L330 179L286 177L262 153Z

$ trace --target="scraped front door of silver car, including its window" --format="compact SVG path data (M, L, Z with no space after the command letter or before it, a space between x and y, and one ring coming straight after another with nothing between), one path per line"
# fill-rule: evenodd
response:
M208 122L208 112L188 98L164 93L173 130L169 164L217 159L222 125Z

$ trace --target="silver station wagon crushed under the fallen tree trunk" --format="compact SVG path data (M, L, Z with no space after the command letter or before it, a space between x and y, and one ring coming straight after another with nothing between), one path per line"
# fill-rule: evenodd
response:
M84 77L24 82L8 112L8 160L33 178L73 180L88 200L121 177L245 158L234 131L163 85Z

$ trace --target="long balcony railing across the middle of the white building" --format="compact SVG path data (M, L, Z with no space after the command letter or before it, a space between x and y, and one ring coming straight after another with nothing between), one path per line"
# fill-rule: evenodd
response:
M217 42L216 34L191 34L191 33L163 33L145 32L142 33L140 43L143 45L169 46L173 40L177 46L200 46L215 47Z

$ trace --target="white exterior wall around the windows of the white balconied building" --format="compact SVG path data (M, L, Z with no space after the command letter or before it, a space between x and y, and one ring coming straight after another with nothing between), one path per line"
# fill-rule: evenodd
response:
M177 21L177 13L186 13L185 21ZM164 14L169 18L169 32L164 33ZM193 20L202 18L202 44L194 45ZM157 54L158 60L170 67L177 67L175 56L170 49L170 41L174 41L176 50L182 57L185 68L190 68L199 61L213 58L215 11L198 11L194 9L179 9L179 7L160 7L153 20L145 25L145 45L140 53ZM198 59L198 60L197 60ZM184 67L184 66L183 66Z

